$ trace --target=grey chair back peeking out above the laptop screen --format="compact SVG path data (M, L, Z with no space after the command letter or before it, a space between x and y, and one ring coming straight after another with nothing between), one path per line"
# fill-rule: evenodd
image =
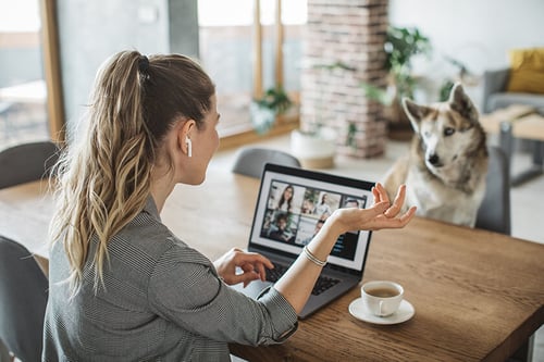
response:
M268 148L246 147L238 151L232 171L236 174L261 178L265 163L300 167L300 161L287 152Z

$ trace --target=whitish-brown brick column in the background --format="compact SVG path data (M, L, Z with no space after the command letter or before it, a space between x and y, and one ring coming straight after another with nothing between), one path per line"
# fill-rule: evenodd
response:
M360 82L386 84L383 42L388 0L308 0L301 74L301 128L323 124L338 134L337 154L384 152L383 107L367 100ZM342 62L351 70L324 68Z

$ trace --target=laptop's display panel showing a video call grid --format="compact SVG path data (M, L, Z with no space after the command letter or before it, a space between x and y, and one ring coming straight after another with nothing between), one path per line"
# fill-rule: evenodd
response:
M368 208L373 184L302 168L267 164L261 177L250 247L296 257L338 208ZM327 263L362 272L371 232L341 235Z

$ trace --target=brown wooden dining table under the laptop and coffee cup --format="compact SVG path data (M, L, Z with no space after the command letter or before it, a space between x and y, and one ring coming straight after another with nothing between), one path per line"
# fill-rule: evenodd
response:
M25 229L10 233L36 248L28 238L41 240L49 215L42 190L0 190L0 220L10 221L0 233ZM209 170L202 186L175 188L162 219L213 259L246 245L257 192L256 179ZM378 326L355 319L347 308L356 288L300 321L284 345L233 345L233 353L249 361L504 361L544 323L543 245L425 219L376 232L371 242L363 282L400 283L416 308L410 321Z

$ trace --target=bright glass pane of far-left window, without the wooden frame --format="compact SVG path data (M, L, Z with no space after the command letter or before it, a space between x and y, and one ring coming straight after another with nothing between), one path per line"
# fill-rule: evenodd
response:
M0 143L49 138L38 0L0 0Z

